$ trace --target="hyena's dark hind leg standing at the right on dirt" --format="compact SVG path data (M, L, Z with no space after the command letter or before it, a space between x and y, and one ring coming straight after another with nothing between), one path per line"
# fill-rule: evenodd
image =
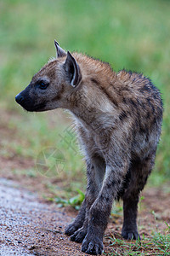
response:
M137 227L139 194L147 181L148 176L154 166L155 154L152 154L144 160L132 161L130 166L131 180L123 200L123 226L122 237L127 240L140 239Z

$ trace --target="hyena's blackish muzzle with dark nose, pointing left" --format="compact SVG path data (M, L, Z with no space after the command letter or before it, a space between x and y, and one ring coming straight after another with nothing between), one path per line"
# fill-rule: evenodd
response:
M43 111L46 103L40 102L36 91L31 92L31 85L29 84L25 90L22 90L17 96L15 96L15 101L20 104L22 108L25 108L27 111Z

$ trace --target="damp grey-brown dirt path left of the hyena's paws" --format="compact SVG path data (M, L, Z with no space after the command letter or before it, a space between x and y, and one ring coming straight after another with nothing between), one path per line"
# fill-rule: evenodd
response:
M0 255L84 255L81 245L64 235L71 217L14 182L0 183Z

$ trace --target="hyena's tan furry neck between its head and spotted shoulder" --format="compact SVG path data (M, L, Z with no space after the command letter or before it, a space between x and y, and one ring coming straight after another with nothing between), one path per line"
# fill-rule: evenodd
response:
M116 73L107 63L77 53L74 57L81 69L82 81L67 98L69 110L92 130L113 126L117 117Z

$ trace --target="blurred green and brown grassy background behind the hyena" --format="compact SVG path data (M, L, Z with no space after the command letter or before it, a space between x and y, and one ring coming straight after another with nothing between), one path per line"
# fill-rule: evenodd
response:
M59 148L65 155L59 177L69 181L70 189L85 183L75 137L65 130L71 124L67 113L26 113L14 102L32 75L55 55L55 38L62 48L108 61L116 71L142 72L161 90L164 121L150 182L170 179L169 14L166 0L1 0L0 128L14 136L1 137L0 154L7 160L11 155L36 160L42 148ZM27 172L36 176L36 166Z

